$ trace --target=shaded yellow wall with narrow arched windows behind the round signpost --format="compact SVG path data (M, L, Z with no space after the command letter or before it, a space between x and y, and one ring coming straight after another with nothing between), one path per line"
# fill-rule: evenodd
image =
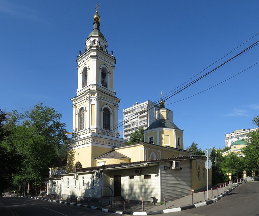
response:
M207 169L204 166L206 160L192 160L191 161L191 182L192 190L194 192L199 191L199 189L204 189L207 187ZM199 168L199 175L198 175ZM211 168L209 169L209 185L212 184L212 173Z

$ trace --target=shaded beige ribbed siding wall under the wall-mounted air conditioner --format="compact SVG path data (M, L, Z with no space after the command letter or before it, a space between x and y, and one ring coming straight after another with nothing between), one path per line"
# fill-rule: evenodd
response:
M181 161L182 170L172 169L170 162L161 163L161 199L175 200L191 194L191 164L190 161ZM170 169L165 170L164 166Z

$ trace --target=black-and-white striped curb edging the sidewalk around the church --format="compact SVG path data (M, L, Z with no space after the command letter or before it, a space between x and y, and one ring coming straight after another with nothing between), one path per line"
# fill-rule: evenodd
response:
M109 210L109 209L102 209L102 208L98 208L98 207L95 207L95 206L87 206L87 205L68 203L68 202L57 201L57 200L49 200L49 199L45 199L45 198L38 198L38 197L31 197L31 196L18 196L18 195L9 195L9 196L45 200L45 201L49 201L49 202L56 202L56 203L61 203L61 204L65 204L65 205L78 206L78 207L83 207L83 208L88 208L88 209L95 209L95 210L100 210L100 211L105 211L105 212L110 212L110 213L116 213L116 214L120 214L120 215L157 215L157 214L165 214L165 213L171 213L171 212L184 211L184 210L187 210L187 209L195 209L195 208L198 208L198 207L201 207L201 206L206 206L206 205L212 204L214 202L217 202L218 200L220 200L221 198L223 198L227 194L229 194L232 190L234 190L238 186L239 186L239 184L230 188L229 190L225 191L223 194L221 194L221 195L219 195L219 196L217 196L217 197L215 197L211 200L207 200L205 202L201 202L201 203L193 204L193 205L188 205L188 206L183 206L183 207L172 208L172 209L164 209L164 210L159 210L159 211L135 211L135 212L112 211L112 210Z

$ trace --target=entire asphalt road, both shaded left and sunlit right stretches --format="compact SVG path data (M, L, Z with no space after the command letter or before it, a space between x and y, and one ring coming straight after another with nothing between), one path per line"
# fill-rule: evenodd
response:
M222 199L202 206L197 209L189 209L181 212L159 214L174 216L259 216L259 182L249 182L240 185ZM87 209L78 206L70 206L44 200L23 197L0 197L0 215L6 216L74 216L74 215L119 215L100 210Z

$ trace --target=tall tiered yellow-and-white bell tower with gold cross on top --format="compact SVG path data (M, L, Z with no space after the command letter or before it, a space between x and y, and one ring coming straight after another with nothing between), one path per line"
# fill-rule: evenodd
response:
M114 90L116 60L113 52L108 53L97 8L93 31L76 59L78 84L76 96L71 99L74 131L67 143L70 171L75 171L79 163L83 167L97 166L97 156L125 143L117 128L120 99Z

